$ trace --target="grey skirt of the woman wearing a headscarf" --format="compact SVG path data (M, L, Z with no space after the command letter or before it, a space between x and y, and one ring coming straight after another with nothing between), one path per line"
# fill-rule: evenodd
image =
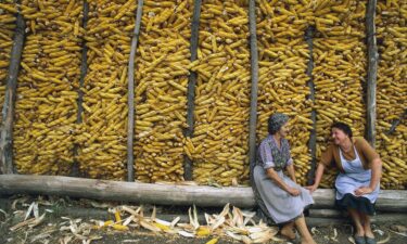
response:
M284 223L294 220L301 216L304 208L314 204L313 196L309 191L294 183L287 177L282 170L277 171L278 176L291 188L301 190L298 196L292 196L270 178L267 177L262 166L255 166L253 170L253 180L258 195L262 197L267 214L276 223Z

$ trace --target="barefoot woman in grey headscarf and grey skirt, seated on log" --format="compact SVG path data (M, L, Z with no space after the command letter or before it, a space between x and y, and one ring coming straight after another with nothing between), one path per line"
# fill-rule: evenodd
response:
M313 204L309 192L295 183L293 159L288 133L288 116L276 113L268 119L268 137L258 147L257 163L252 170L252 187L263 213L277 224L281 234L295 239L294 224L303 244L314 244L303 216L304 208ZM287 169L290 177L285 176Z

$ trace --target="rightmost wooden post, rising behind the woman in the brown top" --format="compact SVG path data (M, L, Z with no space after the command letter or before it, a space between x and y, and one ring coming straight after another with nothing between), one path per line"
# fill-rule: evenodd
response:
M376 42L376 4L377 0L369 0L366 12L366 37L368 48L368 80L367 80L367 140L371 146L376 144L376 84L378 77L378 47Z

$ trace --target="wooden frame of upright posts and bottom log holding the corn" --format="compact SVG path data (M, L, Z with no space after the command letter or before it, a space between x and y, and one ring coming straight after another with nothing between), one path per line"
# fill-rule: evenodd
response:
M376 41L376 0L369 0L366 15L366 36L368 46L368 77L367 77L367 139L370 144L374 145L376 138L376 86L377 86L377 67L378 67L378 48ZM120 200L139 203L163 204L163 205L192 205L198 206L224 206L227 203L239 207L253 207L255 205L254 196L251 188L212 188L203 185L176 185L176 184L149 184L132 182L133 172L133 127L135 127L135 106L133 106L133 66L138 37L140 34L140 24L142 15L143 0L138 1L136 13L136 25L133 37L131 40L130 60L128 64L128 137L127 137L127 180L131 182L118 182L109 180L93 180L74 177L60 176L23 176L13 175L15 169L13 166L12 143L13 143L13 117L14 104L16 98L16 80L18 75L20 62L24 42L25 23L23 16L17 13L17 27L14 36L12 48L12 60L9 67L9 76L7 79L5 99L2 108L3 121L1 126L0 138L0 194L52 194L68 195L77 197L89 197L98 200ZM249 5L250 18L250 47L251 47L251 108L250 108L250 134L249 134L249 157L250 162L255 160L256 155L256 123L257 123L257 81L258 81L258 53L257 37L255 22L255 0L250 0ZM200 25L201 0L194 0L193 17L191 25L191 62L198 57L198 36ZM84 3L84 26L87 24L88 4ZM313 29L306 31L306 41L309 51L313 49ZM87 49L82 50L81 77L80 86L87 70ZM311 77L313 60L308 62L307 75ZM193 134L194 126L194 88L196 82L196 73L192 72L188 84L188 112L187 124L188 129L186 137ZM313 80L309 84L310 100L315 100L315 89ZM78 120L80 123L82 112L82 93L78 89ZM403 117L403 116L402 116ZM403 118L400 118L403 119ZM400 120L399 119L399 120ZM316 112L311 112L311 120L314 121L310 131L309 149L311 154L311 170L308 176L310 183L314 178L316 166ZM391 130L399 123L395 121ZM389 131L392 132L392 131ZM77 169L76 169L77 170ZM74 168L75 171L75 168ZM185 162L185 179L192 180L192 162L186 157ZM314 193L317 208L332 208L334 192L333 190L317 190ZM386 190L380 193L377 208L379 210L407 210L407 192Z

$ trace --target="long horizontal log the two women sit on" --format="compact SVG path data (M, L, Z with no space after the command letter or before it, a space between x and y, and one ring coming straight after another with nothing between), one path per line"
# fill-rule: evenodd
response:
M0 194L44 194L125 201L138 204L222 207L254 207L249 187L214 188L206 185L151 184L94 180L61 176L0 175ZM318 189L313 194L313 208L333 208L334 191ZM383 190L376 204L378 210L406 211L407 191Z

